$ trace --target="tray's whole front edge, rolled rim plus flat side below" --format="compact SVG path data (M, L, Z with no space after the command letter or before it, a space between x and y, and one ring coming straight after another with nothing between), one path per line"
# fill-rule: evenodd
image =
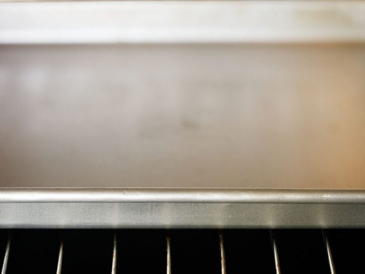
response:
M0 189L0 227L365 227L362 190Z

